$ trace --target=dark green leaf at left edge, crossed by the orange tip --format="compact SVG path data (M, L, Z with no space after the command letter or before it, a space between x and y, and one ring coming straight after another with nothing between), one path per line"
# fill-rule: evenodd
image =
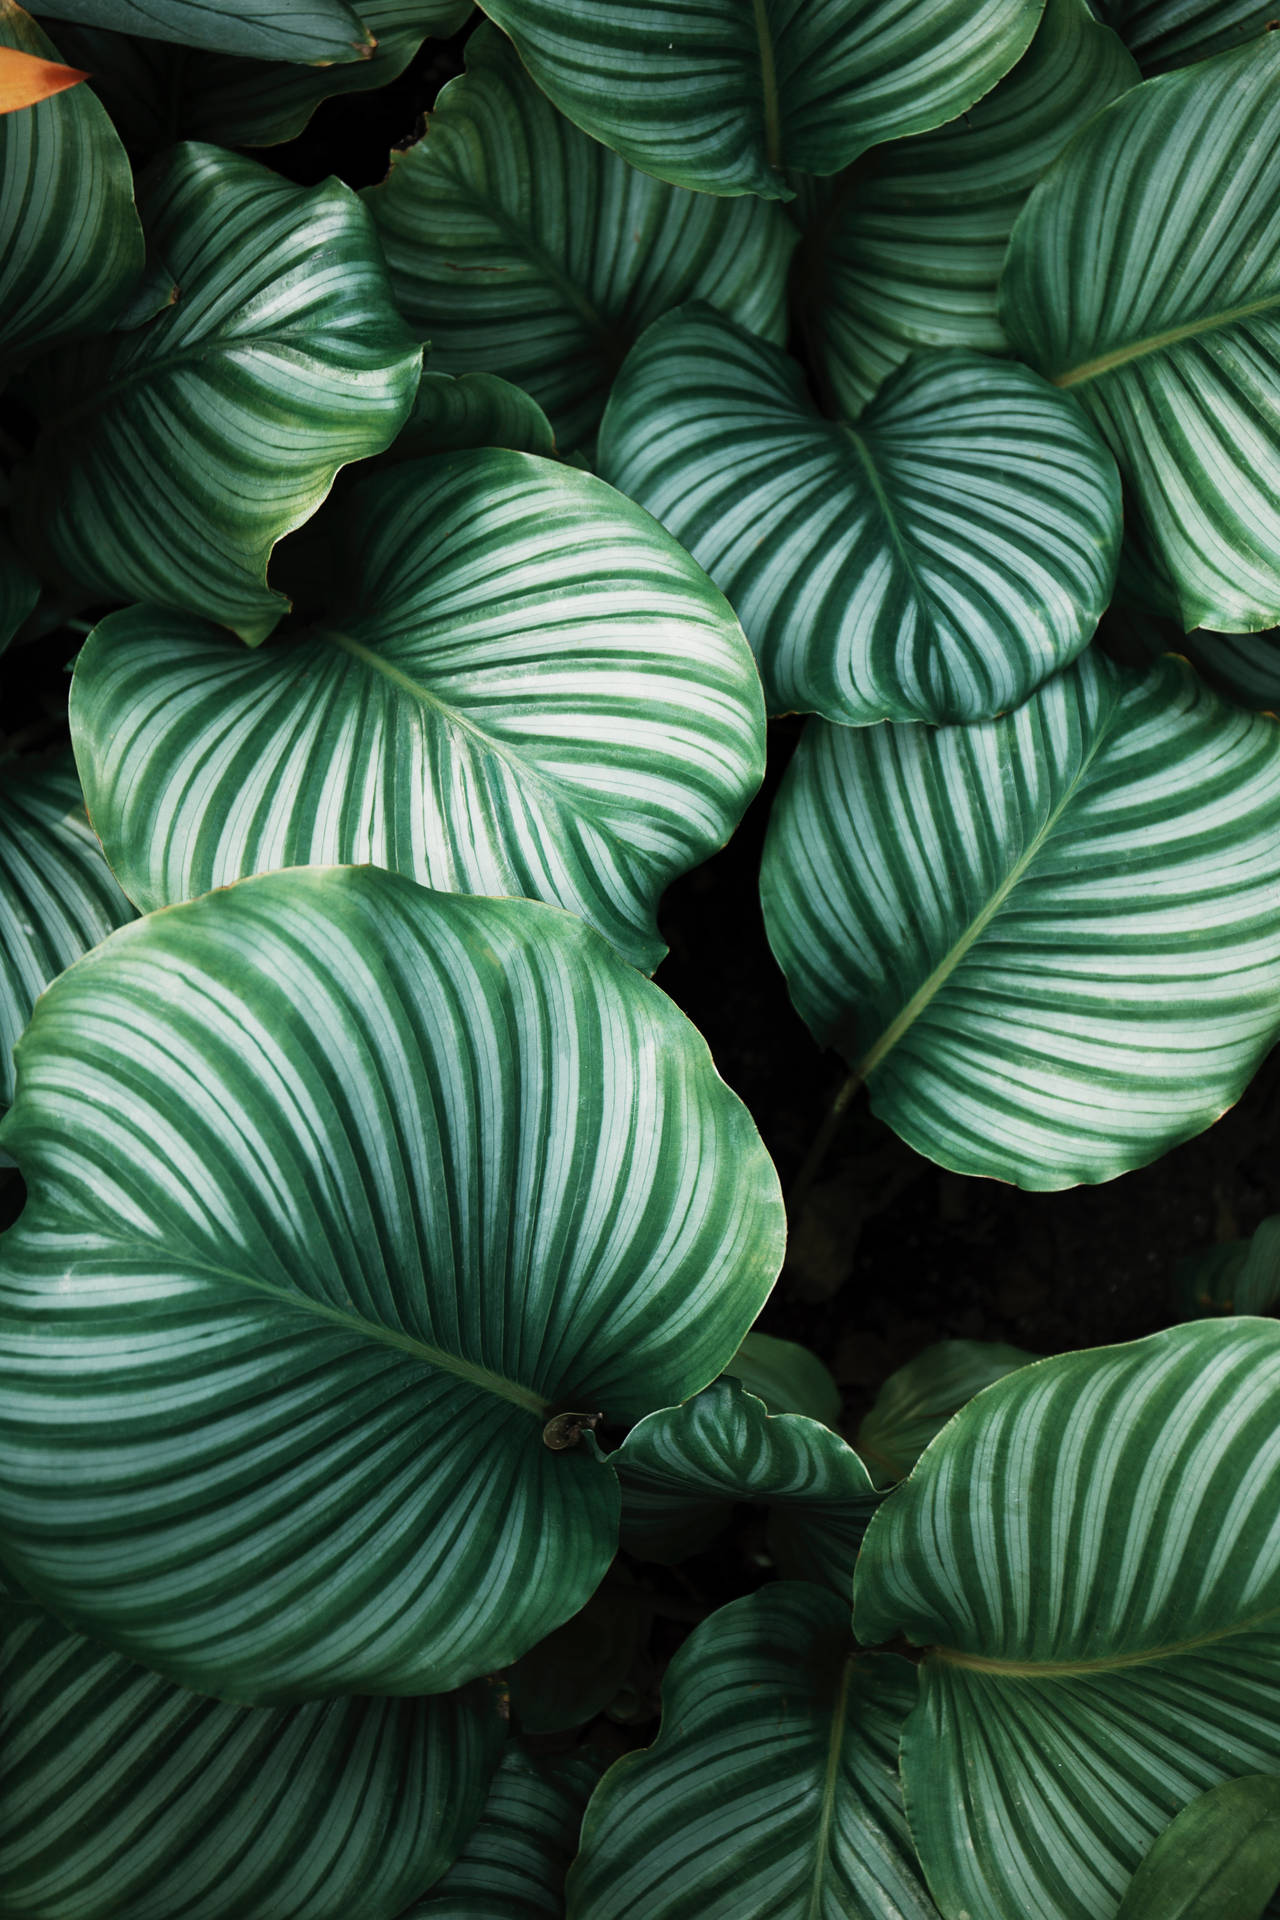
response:
M19 6L0 46L58 60ZM132 175L86 86L0 115L0 361L109 323L142 273Z

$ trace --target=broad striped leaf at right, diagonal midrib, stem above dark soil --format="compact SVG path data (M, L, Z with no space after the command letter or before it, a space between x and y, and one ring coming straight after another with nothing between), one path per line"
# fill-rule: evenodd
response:
M1086 655L973 728L810 724L760 877L791 996L961 1173L1105 1181L1280 1035L1280 732Z

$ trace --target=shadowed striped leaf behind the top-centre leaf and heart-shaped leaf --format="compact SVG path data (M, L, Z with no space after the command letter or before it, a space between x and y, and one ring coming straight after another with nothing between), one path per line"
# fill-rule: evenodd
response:
M1138 67L1084 0L1048 0L994 92L936 132L875 146L825 196L796 253L810 361L850 419L917 348L1006 353L996 282L1027 194Z

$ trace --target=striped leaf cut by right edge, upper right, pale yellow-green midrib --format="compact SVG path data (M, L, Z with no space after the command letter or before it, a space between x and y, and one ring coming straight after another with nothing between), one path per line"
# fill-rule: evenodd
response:
M1019 215L1000 319L1088 409L1182 624L1280 620L1280 40L1146 81Z

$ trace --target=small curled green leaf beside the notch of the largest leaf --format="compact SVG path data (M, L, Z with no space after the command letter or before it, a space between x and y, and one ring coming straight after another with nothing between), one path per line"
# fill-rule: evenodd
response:
M743 1500L770 1507L777 1557L796 1578L848 1594L879 1503L839 1434L800 1413L766 1413L737 1380L631 1428L610 1465L622 1486L622 1544L639 1559L700 1553Z

